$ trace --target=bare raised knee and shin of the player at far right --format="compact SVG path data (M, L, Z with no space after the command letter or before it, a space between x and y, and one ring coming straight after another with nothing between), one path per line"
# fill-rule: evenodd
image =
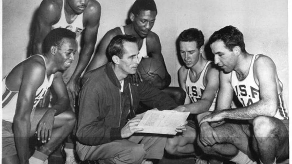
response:
M279 155L289 158L289 152L283 152L289 134L281 120L274 117L259 116L253 120L252 124L254 131L253 148L258 153L262 163L273 163Z

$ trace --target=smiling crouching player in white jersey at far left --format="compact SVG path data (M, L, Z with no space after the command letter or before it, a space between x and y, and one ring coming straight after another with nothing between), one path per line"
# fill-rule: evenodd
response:
M66 86L60 71L70 67L76 52L76 34L57 28L44 39L44 54L30 56L2 80L2 163L47 163L48 155L61 144L75 125ZM57 103L51 108L36 105L50 86ZM43 145L29 154L29 138Z

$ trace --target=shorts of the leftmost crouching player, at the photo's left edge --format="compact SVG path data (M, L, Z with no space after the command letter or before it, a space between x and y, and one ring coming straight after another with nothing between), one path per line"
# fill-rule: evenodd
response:
M12 123L2 120L2 158L16 155Z

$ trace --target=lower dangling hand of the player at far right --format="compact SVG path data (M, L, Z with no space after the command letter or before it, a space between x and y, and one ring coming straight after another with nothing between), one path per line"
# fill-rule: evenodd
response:
M203 145L207 146L212 146L214 145L217 141L217 134L214 131L214 129L209 125L208 122L204 122L200 126L200 141Z

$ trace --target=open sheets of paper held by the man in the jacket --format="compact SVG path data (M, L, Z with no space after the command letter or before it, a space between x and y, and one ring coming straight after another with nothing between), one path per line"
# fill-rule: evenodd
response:
M188 116L189 112L149 110L145 112L138 124L138 128L143 128L144 130L136 133L175 135L177 133L175 131L176 127L182 125Z

